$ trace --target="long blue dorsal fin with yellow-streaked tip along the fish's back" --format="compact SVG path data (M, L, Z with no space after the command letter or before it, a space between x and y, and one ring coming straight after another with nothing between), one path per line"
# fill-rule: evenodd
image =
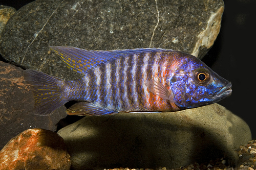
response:
M114 51L93 51L83 50L71 46L50 46L50 49L58 54L68 67L81 74L86 74L88 70L113 59L134 55L138 53L172 51L162 48L136 48L133 50Z

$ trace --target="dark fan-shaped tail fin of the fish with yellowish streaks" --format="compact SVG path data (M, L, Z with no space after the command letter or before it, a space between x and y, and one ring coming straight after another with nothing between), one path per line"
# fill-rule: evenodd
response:
M50 115L68 102L63 98L64 80L30 69L24 71L24 79L34 95L34 114Z

